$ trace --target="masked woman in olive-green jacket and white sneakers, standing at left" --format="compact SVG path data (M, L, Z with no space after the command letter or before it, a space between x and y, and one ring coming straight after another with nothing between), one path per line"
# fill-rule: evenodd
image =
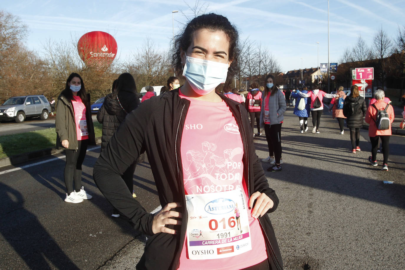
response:
M56 147L64 149L66 154L65 202L79 203L91 199L92 196L81 185L81 164L86 155L87 145L96 145L96 141L90 110L90 94L86 93L83 80L77 73L69 75L65 89L58 97L55 131Z

